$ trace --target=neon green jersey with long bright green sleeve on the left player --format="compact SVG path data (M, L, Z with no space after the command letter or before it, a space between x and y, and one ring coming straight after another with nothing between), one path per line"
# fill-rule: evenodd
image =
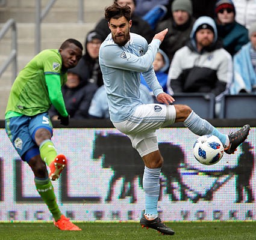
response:
M5 118L34 116L47 112L51 104L62 116L67 116L61 93L67 73L61 71L61 64L62 58L57 49L43 50L28 62L11 87Z

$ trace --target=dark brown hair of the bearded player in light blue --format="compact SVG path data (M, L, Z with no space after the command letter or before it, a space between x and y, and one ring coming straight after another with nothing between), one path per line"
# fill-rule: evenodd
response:
M110 22L110 19L119 19L125 17L128 22L131 20L131 8L128 5L120 6L116 2L105 8L105 19Z

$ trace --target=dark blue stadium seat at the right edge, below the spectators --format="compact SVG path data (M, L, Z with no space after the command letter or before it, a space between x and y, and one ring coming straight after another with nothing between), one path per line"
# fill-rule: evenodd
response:
M225 95L222 98L220 118L256 118L256 94Z

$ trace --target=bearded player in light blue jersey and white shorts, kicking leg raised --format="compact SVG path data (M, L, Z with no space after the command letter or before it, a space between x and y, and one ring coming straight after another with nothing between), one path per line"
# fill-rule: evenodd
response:
M148 45L145 38L130 33L132 25L130 7L114 3L105 8L105 18L111 34L99 49L99 64L110 107L110 119L114 126L131 139L145 163L143 188L145 190L145 214L142 227L150 227L162 234L173 235L158 217L157 202L160 190L160 171L163 157L160 154L155 130L174 122L183 122L193 133L202 136L213 134L221 140L225 152L233 154L245 141L250 126L228 136L220 133L209 122L200 118L186 105L170 105L175 101L163 92L152 63L168 29L155 35ZM163 104L142 104L140 100L140 73Z

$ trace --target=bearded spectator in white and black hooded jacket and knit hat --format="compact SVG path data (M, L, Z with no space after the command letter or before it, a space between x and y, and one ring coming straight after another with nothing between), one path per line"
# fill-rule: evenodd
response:
M189 43L173 57L167 80L168 92L209 92L219 101L228 92L232 66L231 55L217 40L214 20L199 17L193 25Z

